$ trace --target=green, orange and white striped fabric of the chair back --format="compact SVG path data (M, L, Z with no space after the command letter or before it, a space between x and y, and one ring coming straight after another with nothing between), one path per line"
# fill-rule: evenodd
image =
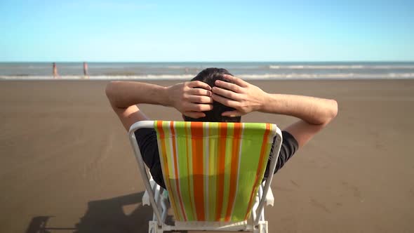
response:
M154 121L154 128L176 220L239 222L250 217L274 125Z

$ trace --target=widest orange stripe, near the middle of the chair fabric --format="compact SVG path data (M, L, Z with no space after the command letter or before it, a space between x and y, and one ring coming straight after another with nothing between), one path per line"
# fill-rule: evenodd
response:
M204 221L203 122L191 123L194 201L198 221Z

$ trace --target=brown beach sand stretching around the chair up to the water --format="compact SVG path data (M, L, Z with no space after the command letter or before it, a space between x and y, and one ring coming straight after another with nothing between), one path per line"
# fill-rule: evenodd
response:
M274 177L270 232L414 231L414 80L252 83L340 106ZM0 81L0 232L147 232L151 209L141 204L145 188L106 84ZM173 108L142 109L180 120ZM243 121L283 128L295 119Z

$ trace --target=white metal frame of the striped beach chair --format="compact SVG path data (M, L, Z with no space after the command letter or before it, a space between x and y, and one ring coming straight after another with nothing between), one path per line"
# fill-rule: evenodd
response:
M253 205L251 212L251 220L253 225L248 224L247 220L241 222L178 222L175 221L175 225L167 225L165 223L168 198L165 195L165 189L156 184L152 180L151 174L145 168L144 161L142 160L140 147L135 138L135 131L139 128L154 128L154 121L138 121L129 129L129 139L135 152L135 158L140 168L142 180L144 181L146 192L142 197L142 204L151 204L153 213L153 220L149 221L149 233L159 233L163 231L173 230L208 230L208 231L244 231L244 232L268 232L267 221L265 220L265 203L273 206L274 197L272 189L269 189L272 182L274 169L276 168L276 161L279 157L279 152L282 143L281 130L273 124L272 129L276 133L276 140L273 145L272 160L270 161L269 177L265 182L260 185L258 194L255 198L255 204ZM276 157L273 155L276 153ZM148 201L149 199L149 201Z

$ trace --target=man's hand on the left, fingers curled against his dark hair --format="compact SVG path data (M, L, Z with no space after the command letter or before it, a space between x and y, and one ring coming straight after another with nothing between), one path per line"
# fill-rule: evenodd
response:
M187 81L166 88L169 105L194 119L206 116L213 109L211 87L202 81Z

